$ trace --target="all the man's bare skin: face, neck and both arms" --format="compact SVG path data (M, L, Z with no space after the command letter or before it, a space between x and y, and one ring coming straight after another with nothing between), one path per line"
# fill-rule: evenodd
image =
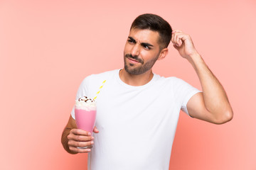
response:
M190 35L181 30L174 30L171 42L181 57L191 63L203 89L202 93L195 94L188 101L188 113L193 118L215 124L230 121L233 118L233 110L225 90L197 52ZM124 46L124 69L119 72L120 79L131 86L148 83L153 77L154 63L163 60L167 54L168 48L161 49L159 45L159 33L151 30L130 30ZM98 133L99 130L95 127L93 132ZM61 142L70 154L90 152L94 143L89 132L77 129L71 116L63 130ZM77 148L86 146L90 148Z

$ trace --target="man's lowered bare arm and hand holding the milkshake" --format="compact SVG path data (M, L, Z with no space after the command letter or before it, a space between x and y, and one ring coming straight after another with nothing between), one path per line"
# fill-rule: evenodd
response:
M95 127L93 132L99 132ZM75 120L70 115L68 124L63 130L61 136L61 143L64 149L70 154L87 153L90 152L93 145L93 137L90 132L77 129ZM89 147L87 149L78 149L78 147Z

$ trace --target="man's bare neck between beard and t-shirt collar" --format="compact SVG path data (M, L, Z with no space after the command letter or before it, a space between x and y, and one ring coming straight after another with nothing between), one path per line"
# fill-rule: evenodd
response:
M130 86L143 86L151 81L153 76L154 74L151 69L143 74L129 74L125 69L121 69L119 72L120 79Z

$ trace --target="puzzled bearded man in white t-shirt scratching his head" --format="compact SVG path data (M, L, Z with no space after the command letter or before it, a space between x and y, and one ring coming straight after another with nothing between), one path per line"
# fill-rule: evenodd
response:
M203 92L176 77L152 73L156 60L168 54L170 40L192 64ZM97 96L97 134L92 137L77 129L73 109L62 136L67 152L89 152L88 169L169 169L181 109L192 118L215 124L233 118L223 86L190 36L172 31L169 23L154 14L138 16L132 23L124 47L124 68L86 77L77 98L93 98L105 79ZM86 146L90 148L78 149Z

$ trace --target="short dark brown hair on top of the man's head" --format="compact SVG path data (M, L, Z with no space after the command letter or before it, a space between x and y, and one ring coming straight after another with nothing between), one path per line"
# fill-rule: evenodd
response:
M138 29L149 29L159 33L159 45L161 48L168 47L171 41L171 26L170 24L165 21L161 16L157 16L151 13L145 13L137 18L132 23L132 28Z

